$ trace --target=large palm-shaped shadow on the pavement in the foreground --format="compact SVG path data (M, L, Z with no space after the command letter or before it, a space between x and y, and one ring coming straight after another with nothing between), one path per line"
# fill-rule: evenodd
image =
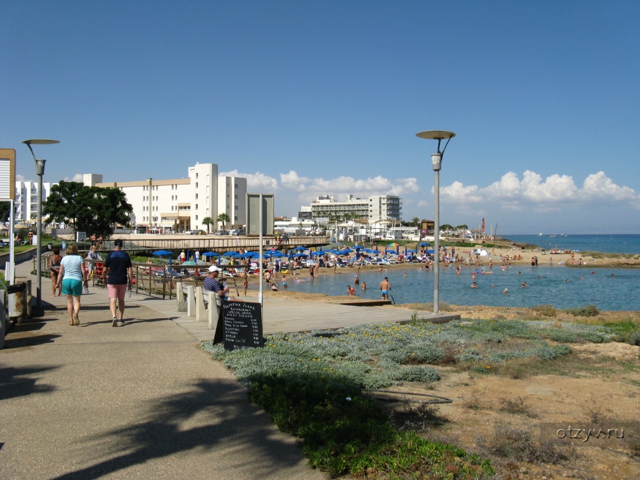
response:
M138 423L87 438L83 448L105 460L55 478L96 479L150 459L214 447L218 454L228 449L225 454L241 459L241 468L253 478L273 475L276 465L298 464L300 451L275 440L268 414L238 401L244 394L246 390L236 381L199 380L188 392L150 402L147 415ZM266 461L259 467L255 458Z

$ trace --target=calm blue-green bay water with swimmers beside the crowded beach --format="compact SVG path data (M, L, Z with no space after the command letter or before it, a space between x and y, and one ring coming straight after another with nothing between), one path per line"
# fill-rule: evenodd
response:
M461 275L455 268L440 268L438 286L440 301L455 305L489 305L493 307L527 307L552 305L555 308L575 308L595 305L600 310L640 310L640 268L591 268L589 262L584 267L557 265L550 255L538 255L539 265L512 265L501 270L499 259L494 260L493 269L484 265L489 275L477 274L471 278L476 268L464 266ZM552 260L553 265L548 261ZM422 269L420 264L406 264L405 268L394 268L378 273L377 270L358 272L356 268L333 269L315 280L295 282L287 275L289 291L324 293L329 296L346 295L347 285L356 289L360 298L380 299L380 282L385 276L391 284L390 297L396 303L433 302L433 271ZM592 273L593 272L593 273ZM355 275L360 285L355 285ZM406 273L406 276L405 276ZM612 276L612 274L614 276ZM582 276L582 278L580 278ZM568 281L567 281L568 280ZM472 282L477 288L471 288ZM362 290L366 282L367 290ZM522 288L522 283L527 286ZM279 282L278 282L279 284ZM504 289L508 293L504 294Z

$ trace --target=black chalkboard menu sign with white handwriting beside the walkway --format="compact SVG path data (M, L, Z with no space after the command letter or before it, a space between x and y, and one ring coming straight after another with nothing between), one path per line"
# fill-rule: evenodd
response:
M213 342L224 342L225 350L263 347L262 305L248 301L223 301Z

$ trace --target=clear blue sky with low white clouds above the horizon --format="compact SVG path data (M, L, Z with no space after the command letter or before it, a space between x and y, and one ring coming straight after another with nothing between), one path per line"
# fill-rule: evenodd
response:
M638 233L636 1L0 0L0 147L45 181L174 179L399 195L403 219ZM34 148L36 148L34 147Z

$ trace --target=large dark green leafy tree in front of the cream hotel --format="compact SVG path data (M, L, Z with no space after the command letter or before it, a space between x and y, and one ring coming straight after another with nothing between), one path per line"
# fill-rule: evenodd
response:
M108 237L116 224L129 225L132 211L127 196L119 188L90 187L61 180L51 187L42 214L49 216L50 221L71 223L75 232Z

